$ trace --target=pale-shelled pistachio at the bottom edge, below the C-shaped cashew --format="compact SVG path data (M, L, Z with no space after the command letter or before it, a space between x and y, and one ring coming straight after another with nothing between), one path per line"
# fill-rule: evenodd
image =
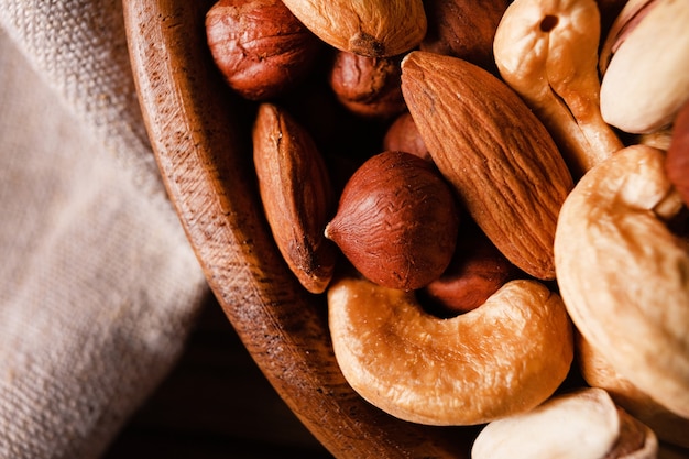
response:
M525 441L526 437L538 441ZM655 458L658 440L602 389L560 394L535 409L494 420L479 433L473 459Z

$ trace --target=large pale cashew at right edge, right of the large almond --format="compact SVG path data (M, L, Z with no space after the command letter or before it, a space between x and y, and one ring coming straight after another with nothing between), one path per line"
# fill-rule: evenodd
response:
M668 196L661 151L621 150L566 199L555 263L581 335L622 376L688 417L689 253L658 216Z

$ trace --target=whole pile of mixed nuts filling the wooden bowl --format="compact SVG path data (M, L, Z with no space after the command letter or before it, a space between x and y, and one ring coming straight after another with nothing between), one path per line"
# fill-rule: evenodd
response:
M485 425L477 458L689 448L687 23L686 0L208 11L276 248L354 391Z

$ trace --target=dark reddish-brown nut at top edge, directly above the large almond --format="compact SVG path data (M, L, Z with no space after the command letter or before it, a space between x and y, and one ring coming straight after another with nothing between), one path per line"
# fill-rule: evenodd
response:
M461 57L495 73L493 39L508 1L426 0L428 31L419 50Z

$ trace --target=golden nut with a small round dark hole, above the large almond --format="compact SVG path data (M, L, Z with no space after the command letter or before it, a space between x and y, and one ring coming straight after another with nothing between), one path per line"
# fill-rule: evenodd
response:
M548 128L572 175L623 144L601 117L594 0L515 0L493 43L503 79Z

